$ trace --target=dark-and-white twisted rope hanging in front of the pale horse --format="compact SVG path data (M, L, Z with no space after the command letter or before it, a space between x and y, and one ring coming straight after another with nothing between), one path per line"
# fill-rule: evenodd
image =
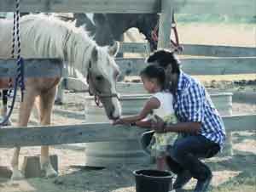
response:
M15 39L16 37L16 39ZM12 58L15 58L15 41L17 41L17 71L15 76L15 86L14 86L14 93L12 98L12 103L10 105L9 112L7 116L4 117L3 121L0 122L0 126L6 124L9 121L9 117L14 109L15 106L15 99L17 94L17 89L20 87L21 91L21 102L23 101L24 90L25 90L25 83L24 83L24 61L20 56L20 0L16 0L15 4L15 12L14 12L14 27L13 27L13 44L12 44ZM11 80L9 81L9 87L11 86ZM10 95L10 93L9 93Z

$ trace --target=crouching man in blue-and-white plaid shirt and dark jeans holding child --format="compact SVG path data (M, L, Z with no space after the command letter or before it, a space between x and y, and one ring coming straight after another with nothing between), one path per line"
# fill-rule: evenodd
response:
M195 192L207 191L212 172L200 159L210 158L222 149L224 123L207 90L195 78L180 70L174 53L159 50L147 61L165 68L166 85L173 94L173 108L178 119L177 123L166 125L159 117L152 128L156 133L174 132L183 136L166 152L168 167L177 174L173 188L181 189L190 178L195 178Z

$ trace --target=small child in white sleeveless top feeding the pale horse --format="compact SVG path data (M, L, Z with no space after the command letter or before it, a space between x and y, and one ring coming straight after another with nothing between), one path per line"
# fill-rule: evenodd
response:
M153 96L148 99L139 114L119 118L113 122L113 125L135 124L138 127L150 128L154 115L160 116L166 123L176 123L177 118L172 107L172 93L165 91L165 70L158 65L148 65L141 72L141 77L144 88L148 93L154 93ZM147 120L145 120L146 117ZM172 145L176 136L177 133L154 133L148 150L151 155L155 156L158 169L165 170L166 146Z

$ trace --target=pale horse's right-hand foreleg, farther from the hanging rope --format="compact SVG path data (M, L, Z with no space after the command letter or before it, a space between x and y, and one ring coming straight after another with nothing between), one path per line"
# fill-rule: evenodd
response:
M40 95L39 101L39 113L40 113L40 124L49 125L50 115L55 99L56 89L52 88L47 93ZM41 158L40 158L41 169L45 172L46 178L55 177L58 175L54 168L51 166L49 161L49 146L41 147Z

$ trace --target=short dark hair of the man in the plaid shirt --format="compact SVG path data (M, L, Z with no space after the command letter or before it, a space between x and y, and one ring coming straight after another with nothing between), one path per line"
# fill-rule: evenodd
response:
M155 51L148 57L147 62L157 63L165 69L168 65L172 65L172 73L180 73L180 61L177 59L177 56L174 52L167 49Z

